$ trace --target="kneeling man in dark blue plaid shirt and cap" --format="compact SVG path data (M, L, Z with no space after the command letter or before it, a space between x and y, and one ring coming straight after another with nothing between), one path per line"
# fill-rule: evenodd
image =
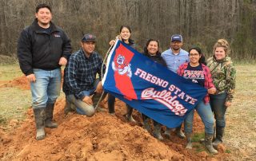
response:
M96 37L85 34L77 52L71 54L64 71L63 92L66 94L65 113L75 110L81 115L93 116L102 88L102 74L106 66L95 52ZM103 68L102 68L103 65ZM102 73L103 71L103 73ZM98 73L99 78L96 79ZM106 94L102 98L104 98Z

